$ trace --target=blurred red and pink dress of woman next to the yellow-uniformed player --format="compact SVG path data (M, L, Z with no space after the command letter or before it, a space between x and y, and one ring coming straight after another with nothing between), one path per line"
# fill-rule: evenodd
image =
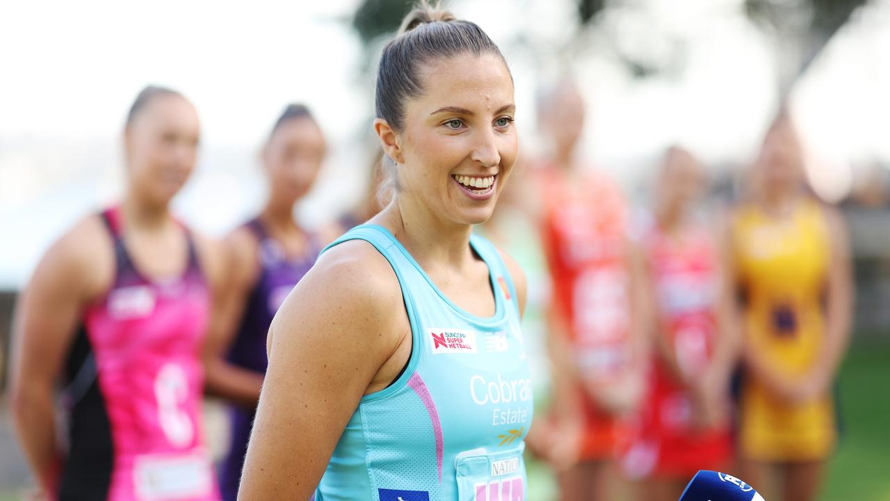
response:
M699 378L713 357L717 328L715 242L704 226L690 224L670 235L653 224L643 248L658 298L658 335L673 348L684 375ZM697 430L693 409L692 395L660 356L653 357L641 425L627 456L629 472L686 479L700 469L722 469L732 454L729 423Z

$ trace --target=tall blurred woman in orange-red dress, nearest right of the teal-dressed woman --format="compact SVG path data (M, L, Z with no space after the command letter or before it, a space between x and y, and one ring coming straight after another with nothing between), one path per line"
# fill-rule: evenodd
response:
M542 95L538 120L543 245L553 281L548 330L554 357L551 460L562 499L605 499L643 390L640 261L627 204L602 171L578 158L585 103L570 78Z

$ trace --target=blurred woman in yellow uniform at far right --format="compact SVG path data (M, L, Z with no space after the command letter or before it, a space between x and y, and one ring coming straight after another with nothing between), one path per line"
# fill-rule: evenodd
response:
M832 385L849 337L849 251L837 210L805 191L787 115L766 134L752 175L728 232L744 325L740 452L745 479L766 499L806 501L837 441Z

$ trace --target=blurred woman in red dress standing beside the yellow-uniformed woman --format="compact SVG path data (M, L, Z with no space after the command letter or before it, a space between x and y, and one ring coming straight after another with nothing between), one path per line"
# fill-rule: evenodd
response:
M655 177L641 245L654 329L647 395L625 456L639 499L674 501L699 470L732 460L729 380L737 333L714 221L700 218L707 181L690 152L671 147Z

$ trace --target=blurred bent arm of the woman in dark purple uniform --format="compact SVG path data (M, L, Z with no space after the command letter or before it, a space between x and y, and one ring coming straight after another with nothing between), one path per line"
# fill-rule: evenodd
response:
M263 374L231 364L226 359L238 330L247 298L260 272L257 243L247 229L238 228L224 247L204 245L206 269L211 281L213 307L204 344L205 390L245 407L255 407L263 386Z

